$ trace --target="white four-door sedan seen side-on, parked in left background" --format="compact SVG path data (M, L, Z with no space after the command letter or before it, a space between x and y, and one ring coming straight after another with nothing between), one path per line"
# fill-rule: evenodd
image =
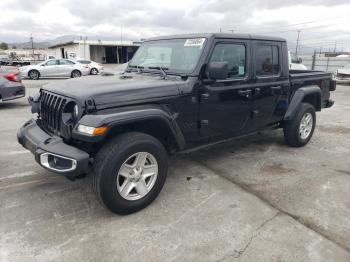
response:
M40 77L81 77L90 73L87 65L70 59L49 59L37 65L19 68L22 78L36 80Z

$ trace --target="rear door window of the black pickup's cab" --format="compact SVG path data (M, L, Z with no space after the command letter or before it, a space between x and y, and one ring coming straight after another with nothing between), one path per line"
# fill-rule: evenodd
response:
M280 72L277 46L257 46L255 70L257 76L276 75Z

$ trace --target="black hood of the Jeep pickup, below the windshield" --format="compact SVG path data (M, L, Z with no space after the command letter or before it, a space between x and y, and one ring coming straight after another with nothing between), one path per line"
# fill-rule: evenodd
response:
M92 98L97 109L126 105L151 99L179 95L179 78L163 79L148 74L126 76L86 76L59 83L50 83L43 89L78 101Z

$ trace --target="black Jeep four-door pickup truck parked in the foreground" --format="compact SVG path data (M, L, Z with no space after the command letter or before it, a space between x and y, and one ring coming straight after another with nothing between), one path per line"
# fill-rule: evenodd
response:
M330 73L289 70L282 38L158 37L122 75L43 87L29 99L36 119L17 136L48 170L70 178L92 170L99 200L129 214L157 197L169 154L266 128L304 146L335 88Z

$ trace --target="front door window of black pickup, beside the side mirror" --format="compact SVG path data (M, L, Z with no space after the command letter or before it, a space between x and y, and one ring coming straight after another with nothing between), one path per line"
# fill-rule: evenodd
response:
M217 44L210 62L227 62L229 77L243 77L246 74L246 48L244 44Z

